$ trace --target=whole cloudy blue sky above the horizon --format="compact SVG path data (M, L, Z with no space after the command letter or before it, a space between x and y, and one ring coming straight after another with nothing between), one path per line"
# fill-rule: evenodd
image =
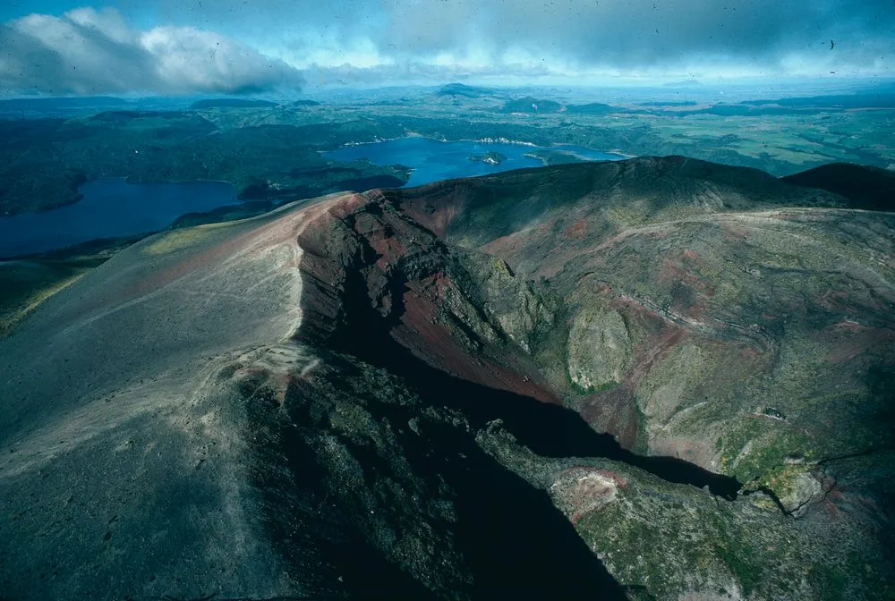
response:
M895 76L895 0L4 0L0 95Z

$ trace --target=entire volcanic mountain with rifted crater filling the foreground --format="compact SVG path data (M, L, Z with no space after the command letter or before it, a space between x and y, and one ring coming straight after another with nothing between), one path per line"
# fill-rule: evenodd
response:
M647 157L144 241L0 341L0 535L61 549L0 590L891 597L895 216L846 206Z

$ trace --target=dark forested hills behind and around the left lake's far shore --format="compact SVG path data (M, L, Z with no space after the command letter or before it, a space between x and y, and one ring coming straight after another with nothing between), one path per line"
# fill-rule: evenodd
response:
M195 113L107 112L88 118L0 120L0 214L75 202L103 176L131 182L231 182L243 199L313 198L399 186L402 167L337 164L319 150L400 133L371 121L219 130Z

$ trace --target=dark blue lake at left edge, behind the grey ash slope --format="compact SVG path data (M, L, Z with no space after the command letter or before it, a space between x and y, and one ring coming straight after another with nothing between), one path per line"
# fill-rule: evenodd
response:
M240 201L229 183L128 183L107 178L83 184L83 199L40 213L0 217L0 257L62 249L72 244L158 232L187 213Z

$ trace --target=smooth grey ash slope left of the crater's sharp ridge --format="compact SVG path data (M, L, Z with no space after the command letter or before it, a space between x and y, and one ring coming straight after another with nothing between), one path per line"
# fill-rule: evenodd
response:
M302 220L150 238L0 341L4 595L284 589L248 485L244 399L216 373L292 334Z

